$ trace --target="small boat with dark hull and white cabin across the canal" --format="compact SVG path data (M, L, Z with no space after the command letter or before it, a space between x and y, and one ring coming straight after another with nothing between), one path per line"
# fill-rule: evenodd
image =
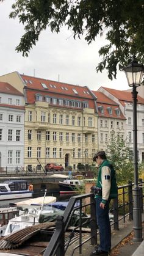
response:
M59 181L60 194L69 194L76 191L76 188L82 188L84 186L83 180L67 179Z

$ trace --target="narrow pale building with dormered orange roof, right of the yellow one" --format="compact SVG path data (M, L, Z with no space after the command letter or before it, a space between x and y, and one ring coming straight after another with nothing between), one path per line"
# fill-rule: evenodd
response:
M126 118L120 106L102 92L95 92L98 106L98 148L106 150L112 134L125 139Z

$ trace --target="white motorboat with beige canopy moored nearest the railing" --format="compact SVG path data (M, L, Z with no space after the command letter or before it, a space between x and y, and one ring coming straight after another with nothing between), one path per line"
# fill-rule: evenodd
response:
M46 193L45 193L46 194ZM46 200L46 201L45 201ZM4 236L9 235L12 232L24 229L35 224L38 224L40 214L53 213L54 210L50 207L49 210L43 210L43 206L47 203L56 202L56 197L38 197L32 200L25 200L23 202L16 203L16 205L24 207L25 210L20 210L20 216L15 216L9 220Z

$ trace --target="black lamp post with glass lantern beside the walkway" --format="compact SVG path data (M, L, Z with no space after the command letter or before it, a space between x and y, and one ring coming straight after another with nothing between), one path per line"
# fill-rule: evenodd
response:
M132 87L132 103L133 103L133 136L134 136L134 241L142 241L142 212L140 208L140 188L138 180L138 159L137 159L137 87L142 82L144 67L134 59L124 68L128 84Z

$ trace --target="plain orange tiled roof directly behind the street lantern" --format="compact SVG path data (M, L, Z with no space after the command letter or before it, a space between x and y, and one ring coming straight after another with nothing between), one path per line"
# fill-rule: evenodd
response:
M125 90L115 90L115 89L110 89L107 87L102 87L105 90L107 90L107 92L111 93L113 96L117 97L119 101L128 101L128 102L132 102L132 93L131 92L126 92ZM144 104L144 100L142 97L140 97L139 95L137 95L137 103L139 104Z

